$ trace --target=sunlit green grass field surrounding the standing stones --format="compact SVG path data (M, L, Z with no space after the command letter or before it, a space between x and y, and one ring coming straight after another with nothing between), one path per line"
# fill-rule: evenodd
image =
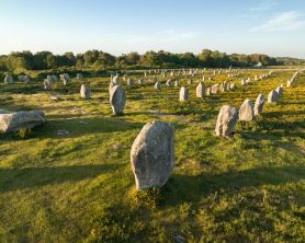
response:
M207 85L227 80L238 89L202 100L195 78L183 104L166 80L160 91L124 84L118 117L109 105L109 77L86 79L88 101L76 79L53 91L42 80L1 83L0 108L42 109L47 121L26 139L0 137L0 242L305 242L305 73L276 105L264 105L261 118L238 124L234 138L214 136L222 105L267 97L295 71L240 85L267 72L215 76ZM176 128L176 169L165 187L138 194L131 146L156 119Z

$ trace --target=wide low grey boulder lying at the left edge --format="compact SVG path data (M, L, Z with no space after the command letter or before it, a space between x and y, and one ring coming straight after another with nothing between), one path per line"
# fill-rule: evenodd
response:
M16 131L21 128L33 128L45 121L41 111L9 112L0 109L0 132Z

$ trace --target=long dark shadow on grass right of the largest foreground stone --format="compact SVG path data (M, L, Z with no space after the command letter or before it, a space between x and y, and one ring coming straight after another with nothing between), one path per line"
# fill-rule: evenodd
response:
M304 166L256 167L246 171L233 171L219 174L176 175L161 188L163 206L183 202L200 202L212 193L241 190L245 187L281 185L305 180Z

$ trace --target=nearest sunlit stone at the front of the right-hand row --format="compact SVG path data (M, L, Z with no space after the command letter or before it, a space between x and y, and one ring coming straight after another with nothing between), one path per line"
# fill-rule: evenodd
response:
M223 105L219 111L215 127L216 136L229 137L233 136L234 127L237 123L238 112L234 106Z

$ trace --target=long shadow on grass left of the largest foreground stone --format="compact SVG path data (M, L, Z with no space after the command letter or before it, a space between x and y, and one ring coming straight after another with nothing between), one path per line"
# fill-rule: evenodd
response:
M56 167L0 169L0 193L93 178L100 174L114 172L120 166L124 165L100 164Z

